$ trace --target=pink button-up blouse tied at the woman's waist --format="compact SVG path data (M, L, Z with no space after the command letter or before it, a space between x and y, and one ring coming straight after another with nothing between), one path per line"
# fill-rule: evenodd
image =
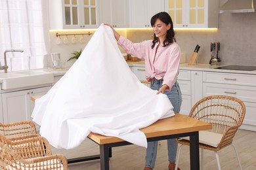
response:
M154 48L151 48L152 40L133 43L120 36L117 43L127 53L145 60L146 80L150 82L152 78L158 80L163 78L163 84L167 84L169 90L171 90L179 75L179 63L181 60L181 49L176 42L165 47L159 46L157 52L156 47L159 42L155 44Z

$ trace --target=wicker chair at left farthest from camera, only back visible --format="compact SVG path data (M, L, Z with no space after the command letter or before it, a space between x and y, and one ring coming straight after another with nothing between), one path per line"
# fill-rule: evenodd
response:
M31 121L14 122L11 124L0 123L0 134L5 135L7 138L20 137L22 135L36 136L37 131L35 125ZM37 135L39 136L39 135Z

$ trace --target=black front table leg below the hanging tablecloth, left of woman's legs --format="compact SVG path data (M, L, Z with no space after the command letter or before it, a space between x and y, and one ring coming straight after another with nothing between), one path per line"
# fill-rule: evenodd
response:
M106 144L100 144L100 170L109 170L109 152L110 148Z

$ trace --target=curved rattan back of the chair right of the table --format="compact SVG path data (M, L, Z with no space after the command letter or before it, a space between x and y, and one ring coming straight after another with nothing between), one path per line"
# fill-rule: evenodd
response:
M211 131L223 134L218 148L232 143L233 137L242 125L245 116L244 103L228 95L204 97L192 107L190 117L212 124Z

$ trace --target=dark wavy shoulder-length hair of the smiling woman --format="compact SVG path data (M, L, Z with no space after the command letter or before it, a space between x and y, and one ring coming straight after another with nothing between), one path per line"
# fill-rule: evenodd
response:
M153 27L153 25L156 23L156 20L160 19L161 22L165 23L166 25L171 24L171 28L169 30L167 30L167 34L166 34L166 39L165 41L163 41L163 46L168 46L169 44L173 43L173 41L176 42L175 40L175 33L173 30L173 20L171 20L171 16L169 16L169 14L167 12L159 12L158 14L155 14L154 16L152 16L150 23L151 26ZM153 44L152 44L152 48L154 48L156 42L158 42L158 37L156 37L156 34L154 33L154 39L153 39Z

